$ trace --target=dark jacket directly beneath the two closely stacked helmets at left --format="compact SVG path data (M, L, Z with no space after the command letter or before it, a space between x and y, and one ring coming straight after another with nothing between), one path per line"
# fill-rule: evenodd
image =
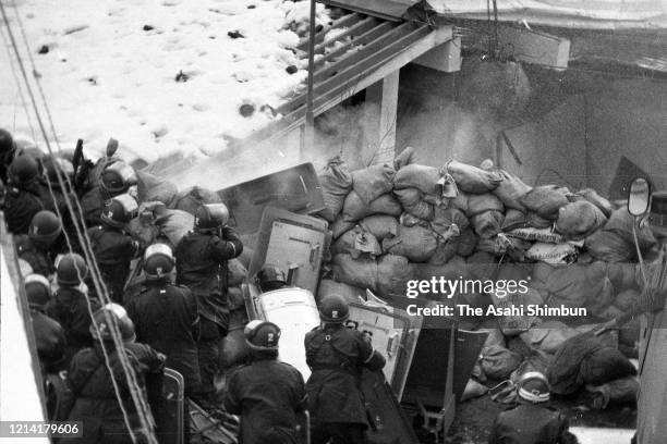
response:
M107 225L88 229L88 236L111 299L122 304L130 262L140 254L140 244L125 232Z

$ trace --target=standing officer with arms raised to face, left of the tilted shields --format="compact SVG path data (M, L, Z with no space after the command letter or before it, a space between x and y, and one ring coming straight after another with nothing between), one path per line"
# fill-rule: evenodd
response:
M243 251L239 235L227 225L228 220L223 203L199 206L194 230L175 248L177 284L192 291L202 317L198 343L202 386L197 400L203 404L213 400L215 395L219 342L229 326L227 261Z

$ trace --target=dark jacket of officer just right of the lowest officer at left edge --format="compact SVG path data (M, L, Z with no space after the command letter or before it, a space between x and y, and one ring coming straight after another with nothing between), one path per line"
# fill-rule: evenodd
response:
M100 308L97 298L88 296L93 312ZM53 295L53 300L47 308L47 313L62 325L66 338L66 360L82 348L93 346L90 335L90 312L86 296L76 287L61 286Z

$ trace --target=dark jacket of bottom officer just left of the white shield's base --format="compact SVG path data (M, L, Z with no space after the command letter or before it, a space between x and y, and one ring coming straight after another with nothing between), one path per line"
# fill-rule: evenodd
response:
M303 377L292 366L275 359L255 360L238 368L227 382L225 407L241 415L241 443L290 442L277 436L295 435L296 412L303 408Z

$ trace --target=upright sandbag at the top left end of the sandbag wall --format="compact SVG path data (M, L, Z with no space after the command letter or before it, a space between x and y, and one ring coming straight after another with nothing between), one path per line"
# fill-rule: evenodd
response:
M319 214L327 221L333 222L352 189L352 175L348 164L340 156L336 156L328 160L318 178L325 203L325 209Z

